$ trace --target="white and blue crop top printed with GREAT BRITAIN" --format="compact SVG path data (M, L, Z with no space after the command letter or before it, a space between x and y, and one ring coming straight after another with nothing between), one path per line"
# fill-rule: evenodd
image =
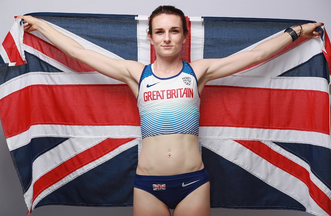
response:
M160 134L199 134L200 94L192 67L183 61L180 72L169 78L146 65L137 97L142 138Z

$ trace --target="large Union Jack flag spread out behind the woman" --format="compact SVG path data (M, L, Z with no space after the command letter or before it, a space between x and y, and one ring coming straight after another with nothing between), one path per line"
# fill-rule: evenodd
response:
M86 49L155 61L147 16L33 13ZM251 50L306 20L187 17L181 58ZM330 55L300 37L269 59L207 83L199 147L211 207L331 215ZM228 29L231 29L229 33ZM142 139L130 88L73 60L16 20L0 47L0 118L26 205L132 206Z

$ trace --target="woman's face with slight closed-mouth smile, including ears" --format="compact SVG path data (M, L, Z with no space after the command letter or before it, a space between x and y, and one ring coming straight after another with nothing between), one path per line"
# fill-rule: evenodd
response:
M157 54L162 56L179 56L182 44L188 34L184 35L183 24L177 15L160 14L152 20L152 35L148 38Z

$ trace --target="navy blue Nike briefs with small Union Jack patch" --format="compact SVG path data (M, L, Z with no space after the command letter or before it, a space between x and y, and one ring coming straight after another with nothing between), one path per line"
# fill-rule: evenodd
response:
M188 194L209 181L209 174L202 170L171 176L145 176L136 174L134 187L156 196L170 209L182 201Z

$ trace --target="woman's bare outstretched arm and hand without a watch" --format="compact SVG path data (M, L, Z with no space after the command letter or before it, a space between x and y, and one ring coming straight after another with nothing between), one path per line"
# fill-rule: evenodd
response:
M139 82L141 74L137 71L141 72L143 70L144 65L142 63L112 59L93 50L85 49L72 38L35 17L18 16L16 19L24 20L24 31L38 30L61 51L95 71L127 84L132 84L132 81Z

